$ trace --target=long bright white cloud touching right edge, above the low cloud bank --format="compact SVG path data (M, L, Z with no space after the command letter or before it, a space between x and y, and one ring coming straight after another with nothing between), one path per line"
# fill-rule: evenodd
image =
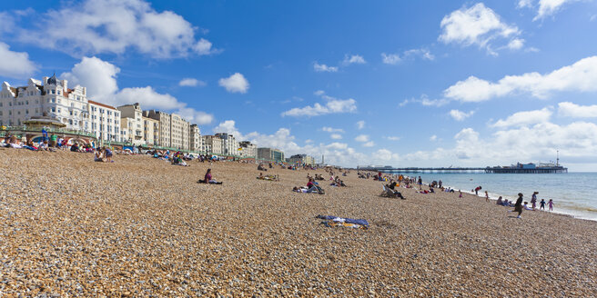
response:
M546 75L506 75L497 83L470 76L451 85L444 91L444 95L461 102L481 102L517 93L546 98L553 92L562 91L597 91L597 56L584 58Z

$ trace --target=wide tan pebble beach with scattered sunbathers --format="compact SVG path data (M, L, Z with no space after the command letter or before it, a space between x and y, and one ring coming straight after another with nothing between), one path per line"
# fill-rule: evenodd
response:
M597 222L256 164L0 148L2 297L592 297ZM221 185L197 184L207 168ZM531 194L525 194L531 195ZM326 227L318 214L369 221Z

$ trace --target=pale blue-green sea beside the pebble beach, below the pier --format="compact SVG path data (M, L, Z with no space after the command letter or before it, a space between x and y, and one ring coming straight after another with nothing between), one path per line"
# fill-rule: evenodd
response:
M450 186L463 193L471 193L475 187L481 186L479 195L485 197L485 191L491 199L502 196L508 200L518 198L518 193L524 194L524 201L531 206L531 195L537 194L537 208L539 202L553 200L553 212L569 214L574 217L597 221L597 173L567 173L567 174L485 174L485 173L393 173L406 176L421 176L426 184L436 180L444 186ZM549 206L545 204L545 210Z

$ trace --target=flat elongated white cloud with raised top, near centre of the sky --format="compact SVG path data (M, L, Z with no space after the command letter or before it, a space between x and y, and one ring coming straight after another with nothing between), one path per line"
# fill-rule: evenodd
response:
M293 116L293 117L312 117L319 116L322 114L339 114L339 113L354 113L357 111L357 101L349 98L347 100L341 100L324 93L319 93L320 96L327 100L326 104L313 104L313 106L295 107L286 112L283 112L282 116Z

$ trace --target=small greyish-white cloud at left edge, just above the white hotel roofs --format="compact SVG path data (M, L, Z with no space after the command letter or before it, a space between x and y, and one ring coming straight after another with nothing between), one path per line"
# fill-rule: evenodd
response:
M0 62L0 75L2 76L25 79L37 71L37 66L29 60L27 53L13 52L9 45L2 42L0 42L0 57L2 57L2 62Z

